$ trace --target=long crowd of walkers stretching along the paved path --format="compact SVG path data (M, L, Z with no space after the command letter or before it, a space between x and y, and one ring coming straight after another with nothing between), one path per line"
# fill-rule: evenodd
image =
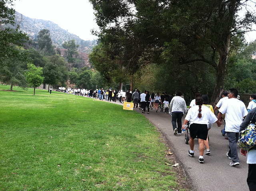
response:
M240 100L238 91L236 89L229 89L222 92L222 98L216 104L213 109L209 103L208 95L195 94L195 98L190 102L189 108L186 106L186 102L182 97L182 92L177 91L175 96L168 95L167 92L163 92L161 95L159 92L149 93L149 91L140 92L135 90L134 93L130 89L128 91L117 91L98 89L93 91L92 89L71 89L60 87L59 91L64 93L72 93L74 95L88 96L98 98L100 100L113 101L124 103L133 102L135 108L140 108L142 113L147 112L149 114L151 110L160 110L160 112L169 113L172 115L172 128L174 135L181 135L182 129L186 129L188 126L190 130L190 139L188 155L194 157L194 145L195 138L198 138L199 143L199 162L204 163L203 155L210 155L210 148L208 142L208 131L212 125L216 122L218 126L221 126L224 122L224 128L221 130L223 136L229 141L229 150L226 156L231 159L230 166L239 165L240 159L238 157L236 142L238 140L239 132L244 130L248 124L256 123L256 95L250 96L250 103L246 109L245 104ZM170 110L170 111L169 111ZM214 112L217 112L216 116ZM217 114L217 113L216 113ZM182 125L182 116L185 116L184 123ZM223 122L222 122L223 121ZM206 148L206 151L204 152ZM240 150L243 156L246 156L247 151ZM256 190L256 146L248 151L248 177L247 183L250 191Z

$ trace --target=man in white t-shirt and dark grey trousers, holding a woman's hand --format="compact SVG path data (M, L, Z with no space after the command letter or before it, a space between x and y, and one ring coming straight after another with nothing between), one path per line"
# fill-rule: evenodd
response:
M229 163L230 166L239 165L240 159L237 154L236 142L239 136L240 124L243 122L243 118L248 114L244 103L238 100L237 96L237 89L228 90L228 100L220 107L217 117L218 120L220 120L222 114L225 113L226 134L229 142L227 156L232 159L232 162Z

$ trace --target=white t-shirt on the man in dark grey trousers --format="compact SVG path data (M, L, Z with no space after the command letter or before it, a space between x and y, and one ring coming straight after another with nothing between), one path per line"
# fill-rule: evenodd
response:
M225 113L226 132L239 132L243 117L248 114L244 102L237 98L225 100L220 107L219 112L222 114Z

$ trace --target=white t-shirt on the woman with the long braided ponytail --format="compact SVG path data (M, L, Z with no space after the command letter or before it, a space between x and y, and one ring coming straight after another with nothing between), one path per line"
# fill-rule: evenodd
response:
M196 105L191 107L188 110L188 113L185 119L188 120L190 124L197 123L197 124L207 124L207 125L209 123L212 124L218 120L214 115L214 113L207 106L202 105L201 109L202 109L201 118L198 118L199 106Z

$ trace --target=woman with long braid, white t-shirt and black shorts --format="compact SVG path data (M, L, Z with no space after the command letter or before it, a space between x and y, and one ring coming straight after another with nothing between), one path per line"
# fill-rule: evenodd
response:
M188 122L190 123L190 140L189 146L190 150L188 150L188 155L190 157L194 157L194 145L195 138L198 138L199 143L199 162L204 163L204 140L208 137L208 124L213 124L217 122L218 125L221 125L220 122L214 113L207 107L204 106L204 100L202 97L196 98L196 106L191 107L188 110L188 114L184 120L184 124L182 128L184 129L184 125Z

